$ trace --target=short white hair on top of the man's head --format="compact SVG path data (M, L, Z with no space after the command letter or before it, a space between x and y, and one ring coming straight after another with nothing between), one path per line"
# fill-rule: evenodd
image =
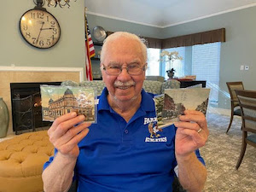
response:
M102 51L101 51L101 62L104 60L104 56L107 52L107 45L109 42L112 42L113 40L120 38L120 37L125 37L125 38L130 38L131 40L136 40L140 45L143 53L143 62L146 62L148 60L148 55L147 55L147 46L146 46L146 40L144 38L139 38L137 35L132 34L130 32L113 32L111 35L108 36L103 42L102 46Z

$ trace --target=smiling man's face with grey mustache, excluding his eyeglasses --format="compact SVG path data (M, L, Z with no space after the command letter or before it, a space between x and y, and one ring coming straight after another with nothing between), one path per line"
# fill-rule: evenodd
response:
M119 38L107 44L102 65L105 67L129 67L134 64L143 67L143 54L140 44L131 39ZM140 75L130 75L123 68L119 75L109 75L102 70L102 79L107 86L109 99L112 102L128 102L140 98L145 72ZM126 84L122 84L126 83Z

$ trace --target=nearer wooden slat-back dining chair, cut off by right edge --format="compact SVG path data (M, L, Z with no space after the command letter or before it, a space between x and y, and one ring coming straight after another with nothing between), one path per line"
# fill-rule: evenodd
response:
M236 96L241 107L242 121L242 143L240 157L236 164L237 170L241 165L247 144L256 148L256 91L236 90Z

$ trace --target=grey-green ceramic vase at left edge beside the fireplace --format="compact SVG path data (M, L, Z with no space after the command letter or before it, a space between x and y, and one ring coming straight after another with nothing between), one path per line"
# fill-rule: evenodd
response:
M9 110L0 97L0 138L6 137L9 127Z

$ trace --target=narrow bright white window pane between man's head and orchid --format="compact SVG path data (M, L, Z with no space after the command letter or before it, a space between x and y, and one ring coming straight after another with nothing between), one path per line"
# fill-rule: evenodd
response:
M148 48L148 69L146 75L160 75L160 49Z

